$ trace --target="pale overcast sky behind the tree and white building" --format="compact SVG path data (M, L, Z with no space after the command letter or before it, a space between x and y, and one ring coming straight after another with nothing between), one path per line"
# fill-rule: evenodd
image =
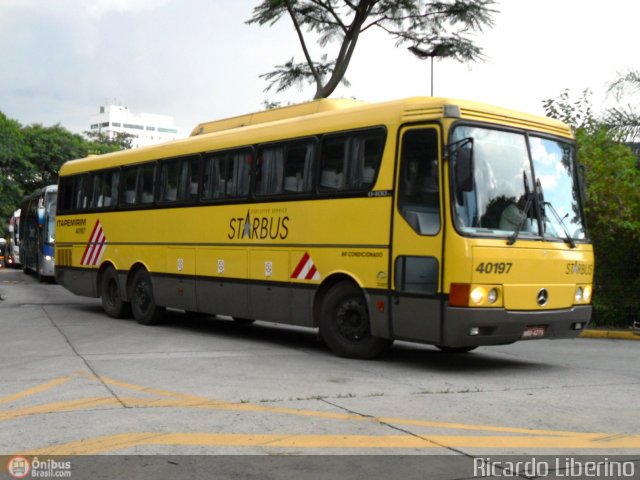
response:
M248 26L258 0L0 0L0 111L23 125L82 132L107 102L171 115L187 133L201 121L309 100L312 87L276 95L258 78L300 47L288 21ZM637 0L499 0L477 37L487 61L435 63L435 95L543 114L564 88L594 91L640 69ZM333 46L335 48L335 45ZM333 97L381 101L429 95L429 63L367 31Z

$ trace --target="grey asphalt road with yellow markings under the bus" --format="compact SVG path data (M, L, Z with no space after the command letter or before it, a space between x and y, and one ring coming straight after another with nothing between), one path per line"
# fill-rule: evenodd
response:
M265 322L111 319L17 270L0 297L2 455L640 458L640 342L397 342L359 361Z

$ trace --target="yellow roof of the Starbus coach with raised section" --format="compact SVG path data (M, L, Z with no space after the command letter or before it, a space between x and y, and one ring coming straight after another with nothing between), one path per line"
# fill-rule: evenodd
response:
M467 100L411 97L367 103L349 99L322 99L201 123L194 128L190 137L180 140L72 160L61 167L60 175L232 148L241 144L442 118L495 123L573 138L569 126L558 120ZM283 128L286 131L281 130Z

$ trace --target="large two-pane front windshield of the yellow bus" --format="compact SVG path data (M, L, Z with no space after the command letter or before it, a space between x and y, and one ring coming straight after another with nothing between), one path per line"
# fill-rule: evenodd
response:
M470 181L454 194L461 233L570 243L585 238L571 144L476 126L456 127L451 140L473 149Z

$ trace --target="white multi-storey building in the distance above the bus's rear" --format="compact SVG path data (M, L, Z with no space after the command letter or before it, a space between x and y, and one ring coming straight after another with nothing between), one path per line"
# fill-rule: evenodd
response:
M130 133L134 135L133 148L168 142L183 136L174 126L173 117L151 113L136 115L122 105L100 107L100 113L91 115L91 131L107 133L110 137L116 132Z

